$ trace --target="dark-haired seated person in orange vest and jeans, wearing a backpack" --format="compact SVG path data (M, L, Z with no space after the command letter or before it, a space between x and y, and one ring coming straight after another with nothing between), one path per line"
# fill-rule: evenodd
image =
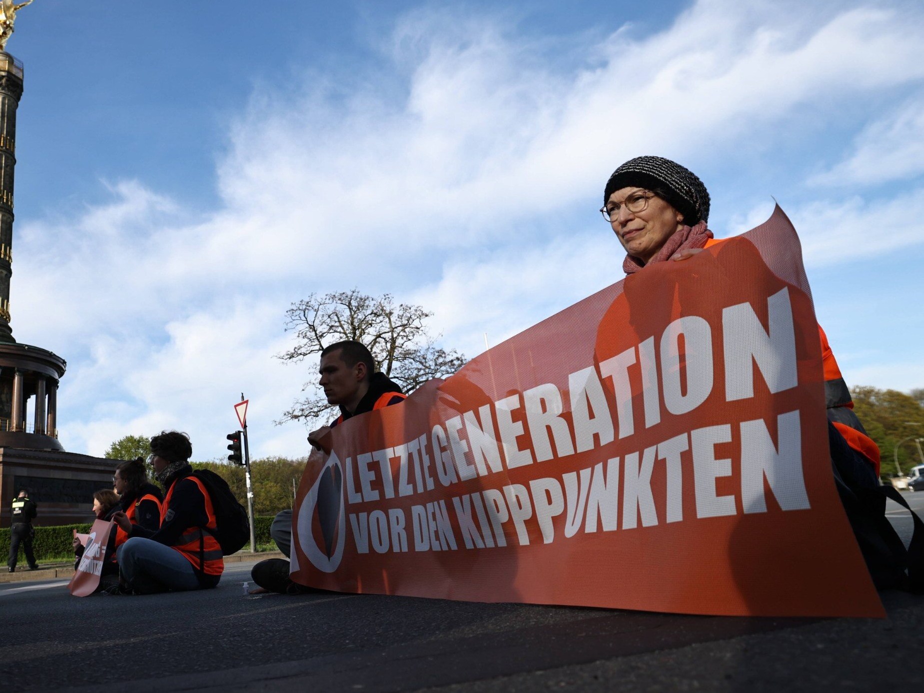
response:
M218 585L225 570L212 500L192 476L192 445L186 433L164 431L151 439L154 474L164 485L160 527L132 524L128 515L114 516L128 541L118 550L124 590L152 594L166 590L200 590Z

